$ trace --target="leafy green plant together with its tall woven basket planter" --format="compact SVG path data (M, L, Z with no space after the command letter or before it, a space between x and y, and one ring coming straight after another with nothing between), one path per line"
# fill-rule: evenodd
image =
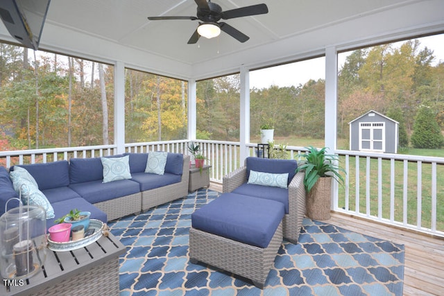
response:
M304 186L307 191L307 216L315 220L330 219L330 200L332 180L343 184L345 170L337 164L337 155L325 154L326 147L318 150L306 147L307 153L298 155L305 159L296 169L305 171Z

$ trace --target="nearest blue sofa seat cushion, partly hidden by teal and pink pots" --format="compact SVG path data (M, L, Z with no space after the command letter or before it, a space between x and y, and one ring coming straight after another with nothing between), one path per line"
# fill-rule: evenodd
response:
M93 204L90 204L83 198L73 198L71 200L62 200L60 202L54 202L53 207L54 207L54 212L56 213L56 217L53 219L46 220L47 229L49 229L49 227L55 224L54 220L62 218L63 216L68 214L69 211L71 211L71 209L78 209L79 211L89 211L91 212L91 216L89 218L101 220L103 223L108 222L108 218L104 211L97 209L96 207L94 207Z

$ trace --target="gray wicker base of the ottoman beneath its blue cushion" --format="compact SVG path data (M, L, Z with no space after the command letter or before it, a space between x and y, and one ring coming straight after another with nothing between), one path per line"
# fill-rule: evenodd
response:
M191 227L189 259L191 263L201 261L246 277L257 288L263 289L281 244L282 222L266 248L247 245Z

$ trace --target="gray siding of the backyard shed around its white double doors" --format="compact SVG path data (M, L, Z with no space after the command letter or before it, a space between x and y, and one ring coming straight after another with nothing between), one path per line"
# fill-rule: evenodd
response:
M373 115L372 115L373 114ZM361 123L384 123L384 153L398 152L398 122L374 111L358 117L350 125L350 150L359 151L359 125ZM368 147L364 148L368 150Z

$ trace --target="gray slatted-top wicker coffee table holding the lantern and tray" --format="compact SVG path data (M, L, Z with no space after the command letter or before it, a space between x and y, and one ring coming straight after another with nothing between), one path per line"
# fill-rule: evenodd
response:
M119 256L126 247L112 234L68 252L47 250L42 270L0 295L119 295Z

